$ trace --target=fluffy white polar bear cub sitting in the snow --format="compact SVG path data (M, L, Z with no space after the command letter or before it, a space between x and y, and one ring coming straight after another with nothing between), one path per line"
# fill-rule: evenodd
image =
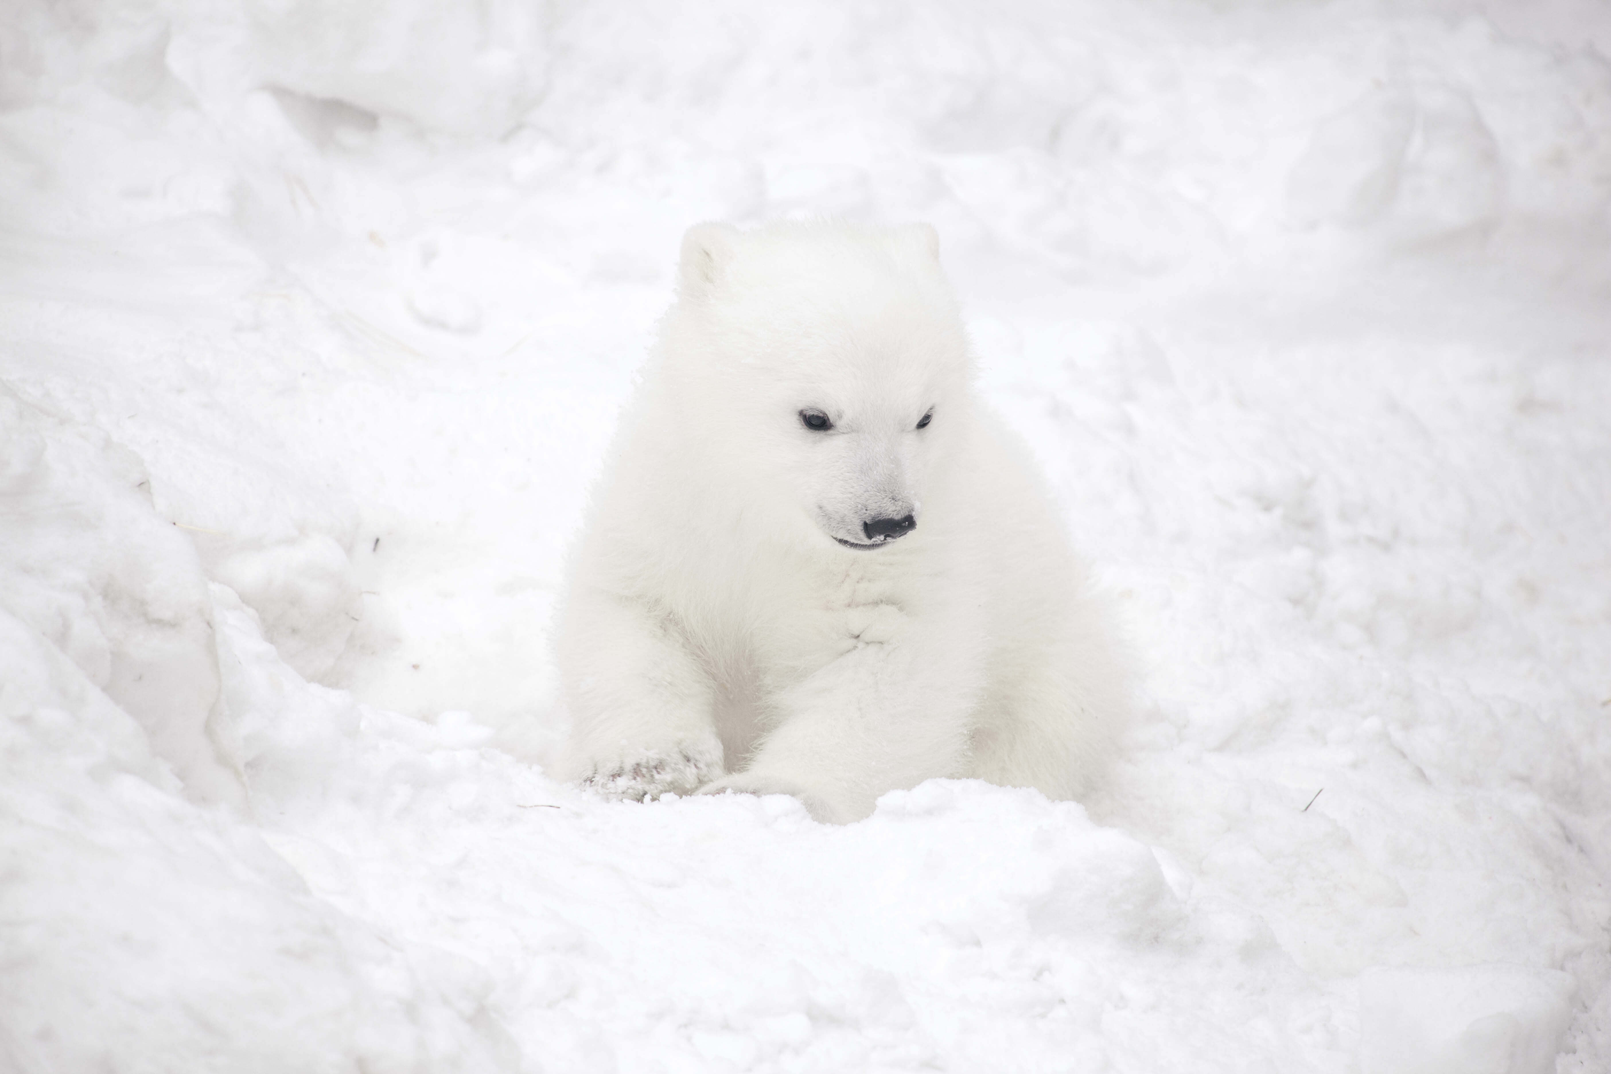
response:
M971 380L931 227L691 229L570 562L565 775L841 823L931 776L1079 794L1124 676Z

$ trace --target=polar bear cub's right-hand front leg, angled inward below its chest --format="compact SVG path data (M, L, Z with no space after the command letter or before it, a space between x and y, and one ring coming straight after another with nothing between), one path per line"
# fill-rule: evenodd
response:
M701 794L793 794L817 820L860 820L886 791L962 775L971 678L965 659L862 646L783 691L754 762Z

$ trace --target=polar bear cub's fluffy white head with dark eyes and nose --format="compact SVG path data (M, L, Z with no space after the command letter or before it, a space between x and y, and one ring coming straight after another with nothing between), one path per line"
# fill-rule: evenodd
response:
M921 528L971 422L926 224L693 227L661 353L696 465L746 522L854 552Z

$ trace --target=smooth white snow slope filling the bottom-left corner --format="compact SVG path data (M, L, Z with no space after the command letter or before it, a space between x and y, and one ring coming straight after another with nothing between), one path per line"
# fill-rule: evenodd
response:
M0 659L10 1069L516 1069L474 974L185 802L140 726L5 613Z

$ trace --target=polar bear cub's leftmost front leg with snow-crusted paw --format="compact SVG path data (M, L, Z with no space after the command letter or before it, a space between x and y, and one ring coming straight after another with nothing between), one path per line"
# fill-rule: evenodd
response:
M664 613L601 593L567 609L565 776L614 799L686 794L722 775L709 673Z

